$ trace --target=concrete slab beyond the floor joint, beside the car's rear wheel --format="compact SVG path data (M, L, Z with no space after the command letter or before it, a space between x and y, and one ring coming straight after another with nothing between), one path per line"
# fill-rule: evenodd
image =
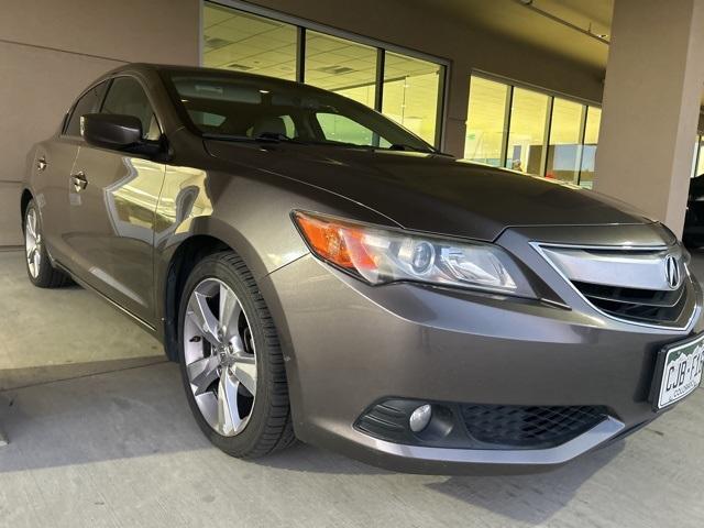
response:
M91 293L33 287L19 251L0 251L0 391L165 361L156 340Z

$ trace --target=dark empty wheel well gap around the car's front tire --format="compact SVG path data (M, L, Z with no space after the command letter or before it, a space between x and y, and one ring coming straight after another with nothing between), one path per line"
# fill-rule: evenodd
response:
M208 255L231 248L215 237L195 235L182 243L168 264L164 292L164 348L172 361L178 361L178 307L188 275Z

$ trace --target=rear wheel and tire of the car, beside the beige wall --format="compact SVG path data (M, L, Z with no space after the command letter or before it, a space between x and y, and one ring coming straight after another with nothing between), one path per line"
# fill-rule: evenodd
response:
M34 200L30 200L22 223L24 233L24 264L32 284L38 288L61 288L72 280L52 265L42 238L42 221Z

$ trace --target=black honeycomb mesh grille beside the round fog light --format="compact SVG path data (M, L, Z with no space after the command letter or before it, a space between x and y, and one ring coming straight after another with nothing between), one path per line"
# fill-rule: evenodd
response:
M461 413L475 440L522 449L564 443L593 428L607 415L606 408L600 406L462 405Z

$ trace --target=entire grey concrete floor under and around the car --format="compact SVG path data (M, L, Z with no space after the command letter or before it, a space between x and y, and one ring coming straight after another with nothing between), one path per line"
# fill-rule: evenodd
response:
M202 437L158 344L92 294L33 288L0 253L0 314L3 527L704 524L702 389L540 475L405 475L302 444L243 462Z

